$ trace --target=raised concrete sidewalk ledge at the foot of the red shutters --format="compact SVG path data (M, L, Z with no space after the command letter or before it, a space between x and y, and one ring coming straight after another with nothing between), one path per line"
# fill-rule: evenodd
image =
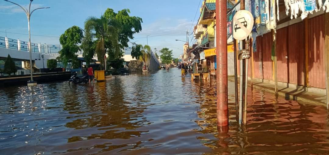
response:
M234 76L228 77L228 80L234 82ZM240 78L238 78L238 83L240 83ZM248 80L248 85L251 86L251 81ZM275 94L275 88L273 84L267 82L261 82L256 79L252 80L252 87L255 89L264 90ZM326 95L307 91L306 87L300 87L297 89L278 86L278 95L285 96L286 100L303 101L308 103L313 103L317 105L326 106L327 97Z

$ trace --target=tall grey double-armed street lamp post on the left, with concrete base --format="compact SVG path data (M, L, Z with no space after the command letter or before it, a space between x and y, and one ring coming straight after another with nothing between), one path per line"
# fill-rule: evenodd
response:
M6 2L10 2L10 3L13 3L13 4L15 4L15 5L21 7L21 8L24 10L24 12L25 12L25 14L26 14L26 16L27 16L28 29L29 29L29 45L28 45L28 47L29 47L29 51L30 51L30 69L31 69L31 70L30 70L30 72L31 72L31 81L28 83L28 86L29 86L29 85L30 85L30 86L37 85L37 83L33 81L30 19L31 19L31 15L32 15L32 13L33 13L35 10L38 10L38 9L49 9L50 7L46 7L46 8L37 8L37 9L34 9L34 10L31 11L31 3L32 3L33 0L30 0L29 10L27 10L26 8L23 8L23 7L20 6L19 4L16 4L16 3L11 2L11 1L9 1L9 0L4 0L4 1L6 1Z

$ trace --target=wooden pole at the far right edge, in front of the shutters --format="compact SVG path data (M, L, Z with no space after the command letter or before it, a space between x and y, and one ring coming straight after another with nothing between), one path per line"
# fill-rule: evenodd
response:
M327 95L327 109L329 108L329 12L324 15L325 20L325 66L326 66L326 95Z

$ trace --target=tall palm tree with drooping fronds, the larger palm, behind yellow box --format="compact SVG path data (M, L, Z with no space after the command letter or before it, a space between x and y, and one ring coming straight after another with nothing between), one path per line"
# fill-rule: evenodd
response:
M110 44L115 51L120 50L118 43L119 27L118 22L105 18L103 15L100 18L91 16L85 21L86 36L96 39L95 53L98 61L102 64L101 69L106 65L104 56L107 51L107 45Z

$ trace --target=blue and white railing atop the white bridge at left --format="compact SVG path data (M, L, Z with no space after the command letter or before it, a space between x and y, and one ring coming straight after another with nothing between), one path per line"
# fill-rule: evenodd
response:
M0 48L9 48L22 51L28 51L29 42L21 41L19 39L11 39L7 37L0 36ZM31 43L32 52L40 53L58 53L62 49L61 45L46 45L46 44L36 44Z

